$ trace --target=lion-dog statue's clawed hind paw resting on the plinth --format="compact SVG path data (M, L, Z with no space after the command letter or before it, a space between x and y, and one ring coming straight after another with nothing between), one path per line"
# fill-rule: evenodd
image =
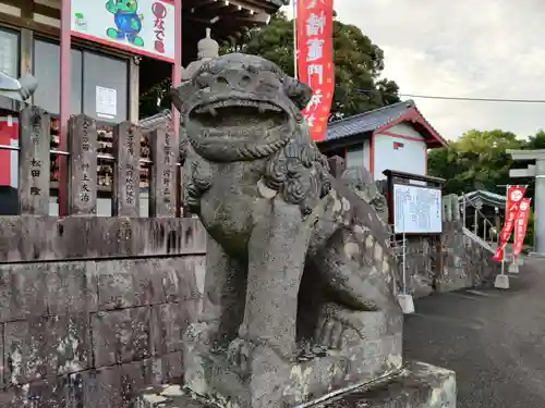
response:
M352 311L337 304L325 305L322 309L314 341L329 349L341 349L362 339L362 311Z

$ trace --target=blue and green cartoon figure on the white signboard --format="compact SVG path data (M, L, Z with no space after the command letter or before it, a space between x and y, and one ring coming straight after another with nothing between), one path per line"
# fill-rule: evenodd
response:
M142 30L143 14L138 14L138 0L108 0L106 10L113 14L116 28L106 30L108 37L126 40L135 46L143 47L144 40L138 33Z

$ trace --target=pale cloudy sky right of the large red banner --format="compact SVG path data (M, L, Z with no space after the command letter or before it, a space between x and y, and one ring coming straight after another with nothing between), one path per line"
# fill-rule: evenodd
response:
M401 94L545 100L543 0L336 0L335 9L385 51L385 76ZM448 139L545 128L545 103L414 100Z

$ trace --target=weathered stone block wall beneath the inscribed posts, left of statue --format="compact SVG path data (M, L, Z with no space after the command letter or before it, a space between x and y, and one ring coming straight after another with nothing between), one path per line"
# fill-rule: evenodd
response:
M129 407L179 378L205 244L192 219L0 218L0 407Z

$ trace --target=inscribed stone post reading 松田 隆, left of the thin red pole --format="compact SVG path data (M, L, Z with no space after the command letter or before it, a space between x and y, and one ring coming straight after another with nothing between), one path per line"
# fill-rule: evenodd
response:
M19 126L19 211L48 215L50 116L37 107L26 107Z

